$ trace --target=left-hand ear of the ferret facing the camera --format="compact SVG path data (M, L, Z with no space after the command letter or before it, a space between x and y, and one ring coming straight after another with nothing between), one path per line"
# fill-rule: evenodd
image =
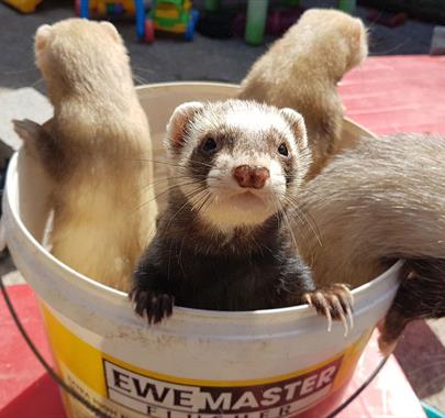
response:
M167 146L169 148L179 148L183 145L188 122L203 107L204 105L199 101L189 101L175 109L167 124Z

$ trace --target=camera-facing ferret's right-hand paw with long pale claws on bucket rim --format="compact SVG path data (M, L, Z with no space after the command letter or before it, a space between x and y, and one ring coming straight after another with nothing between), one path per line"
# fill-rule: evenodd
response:
M319 315L327 318L327 331L332 329L332 320L340 320L345 329L345 337L354 327L353 295L343 284L321 287L303 295L308 305L313 306Z

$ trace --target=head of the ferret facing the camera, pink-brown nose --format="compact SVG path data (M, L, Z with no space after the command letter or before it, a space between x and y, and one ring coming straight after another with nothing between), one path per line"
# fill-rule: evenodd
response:
M166 142L177 187L222 232L297 205L311 161L301 114L253 101L183 103Z

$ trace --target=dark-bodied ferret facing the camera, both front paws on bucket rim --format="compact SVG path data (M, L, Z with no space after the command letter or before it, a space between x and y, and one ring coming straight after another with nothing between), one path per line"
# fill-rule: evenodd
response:
M171 116L166 146L168 206L134 274L135 311L156 323L174 304L255 310L309 302L347 331L348 288L316 287L289 229L287 212L311 162L301 114L253 101L188 102Z

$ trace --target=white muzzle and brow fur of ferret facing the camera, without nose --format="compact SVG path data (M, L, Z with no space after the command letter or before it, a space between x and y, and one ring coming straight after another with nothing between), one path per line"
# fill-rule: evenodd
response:
M246 111L227 112L225 123L235 130L247 133L252 144L235 144L234 152L222 148L209 172L207 186L209 204L200 210L200 216L222 232L230 232L238 227L255 227L264 223L276 213L283 202L286 195L285 172L276 157L270 155L269 144L265 144L265 133L275 128L285 132L292 139L292 133L286 121L277 113L266 112L263 109L248 109ZM211 132L214 129L211 120L202 124L200 120L192 127L190 136L202 138L202 132ZM240 141L243 141L240 139ZM187 144L186 150L190 155L196 144ZM248 148L248 152L246 150ZM289 153L297 153L297 144L293 140L288 141ZM296 154L294 154L296 155ZM233 170L242 165L265 167L270 177L260 189L243 188L233 177ZM183 187L190 191L193 186ZM183 191L186 191L183 190ZM186 191L186 193L187 193ZM199 207L205 193L202 191L190 201Z

